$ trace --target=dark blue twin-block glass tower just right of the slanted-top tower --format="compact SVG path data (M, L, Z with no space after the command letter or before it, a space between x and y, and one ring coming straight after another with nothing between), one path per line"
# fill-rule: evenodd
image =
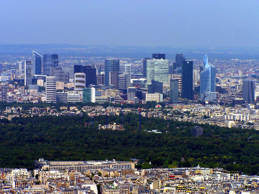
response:
M57 54L43 56L43 74L50 76L50 69L59 66L59 56Z

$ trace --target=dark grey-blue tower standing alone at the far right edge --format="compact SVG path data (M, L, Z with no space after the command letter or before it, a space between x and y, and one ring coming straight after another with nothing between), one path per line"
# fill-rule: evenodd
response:
M254 79L243 79L243 99L246 103L254 103L254 92L255 92L255 80Z

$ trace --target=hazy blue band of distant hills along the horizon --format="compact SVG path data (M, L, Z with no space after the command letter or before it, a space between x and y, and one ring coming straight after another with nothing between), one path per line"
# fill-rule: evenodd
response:
M206 52L210 59L249 59L259 60L258 48L226 47L174 47L174 46L104 46L74 44L0 44L0 55L31 56L31 52L58 54L60 56L89 56L143 59L153 53L165 53L166 59L175 60L175 54L183 53L187 60L202 60Z

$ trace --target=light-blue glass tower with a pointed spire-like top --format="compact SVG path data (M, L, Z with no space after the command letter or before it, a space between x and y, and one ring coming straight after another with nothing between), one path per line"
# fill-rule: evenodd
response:
M208 63L208 54L203 57L203 68L200 72L200 99L208 101L207 96L214 98L215 95L209 94L216 91L216 68ZM210 101L214 99L210 98Z

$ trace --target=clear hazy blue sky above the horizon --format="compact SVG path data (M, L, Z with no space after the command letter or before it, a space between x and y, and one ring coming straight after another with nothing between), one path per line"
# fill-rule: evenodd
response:
M0 43L259 46L259 1L0 1Z

